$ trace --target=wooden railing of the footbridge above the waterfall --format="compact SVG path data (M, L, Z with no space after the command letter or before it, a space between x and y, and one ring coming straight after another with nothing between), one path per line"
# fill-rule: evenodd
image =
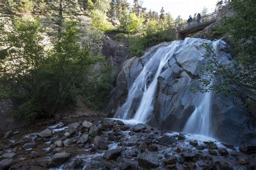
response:
M211 23L211 22L214 22L217 18L217 15L218 15L218 11L217 12L213 12L213 13L209 13L205 16L201 16L201 19L193 19L191 22L186 22L186 23L182 23L182 24L179 24L179 32L180 31L185 31L185 30L188 30L188 29L192 29L194 27L198 27L200 25L204 25L204 24L207 24L207 23Z

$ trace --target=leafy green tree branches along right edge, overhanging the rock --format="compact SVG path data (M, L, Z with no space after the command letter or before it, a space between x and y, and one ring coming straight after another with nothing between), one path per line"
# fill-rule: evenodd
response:
M223 19L224 25L215 28L214 34L230 35L230 42L235 45L234 60L229 65L220 64L213 55L212 47L205 45L206 56L210 61L203 68L201 79L202 91L215 90L217 93L240 97L248 104L256 102L256 4L253 0L234 1L230 8L236 13L235 17ZM214 73L214 74L208 74ZM210 82L215 79L213 84Z

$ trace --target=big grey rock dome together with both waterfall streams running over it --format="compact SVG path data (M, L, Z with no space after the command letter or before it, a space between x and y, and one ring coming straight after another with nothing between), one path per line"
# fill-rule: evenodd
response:
M210 45L219 62L233 59L222 40L186 38L164 42L127 60L117 76L107 111L109 116L214 137L230 144L256 144L255 128L246 108L233 105L230 97L214 91L193 93L199 84L199 67ZM242 103L239 98L237 102Z

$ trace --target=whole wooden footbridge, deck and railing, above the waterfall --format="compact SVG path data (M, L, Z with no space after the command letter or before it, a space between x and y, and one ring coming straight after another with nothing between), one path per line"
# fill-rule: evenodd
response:
M179 34L181 37L187 34L196 33L204 30L206 26L211 25L217 19L218 12L209 13L208 15L202 16L200 20L193 19L192 22L179 24Z

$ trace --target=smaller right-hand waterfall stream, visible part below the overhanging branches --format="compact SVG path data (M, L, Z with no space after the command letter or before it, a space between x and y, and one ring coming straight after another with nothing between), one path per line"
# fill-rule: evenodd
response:
M199 94L196 109L188 118L183 131L212 137L211 131L211 95L212 91Z

